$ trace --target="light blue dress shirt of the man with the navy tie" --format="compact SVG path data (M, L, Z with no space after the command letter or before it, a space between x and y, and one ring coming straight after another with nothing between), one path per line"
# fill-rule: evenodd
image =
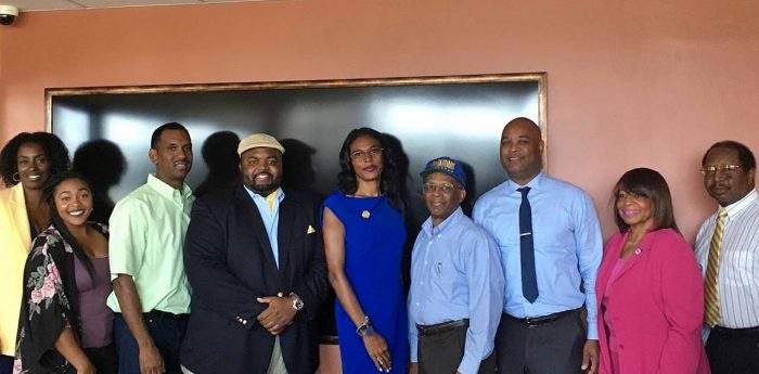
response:
M519 205L522 188L507 180L485 193L473 218L498 243L506 274L503 311L516 318L541 317L577 309L588 311L588 338L597 339L595 276L603 241L599 218L582 190L542 172L529 183L536 275L540 295L529 302L522 294ZM584 295L580 292L583 283Z

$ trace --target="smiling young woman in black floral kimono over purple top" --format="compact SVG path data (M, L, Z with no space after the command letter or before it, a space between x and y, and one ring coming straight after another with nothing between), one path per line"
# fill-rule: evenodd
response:
M44 188L52 224L24 269L15 373L115 373L107 228L88 222L89 184L75 172Z

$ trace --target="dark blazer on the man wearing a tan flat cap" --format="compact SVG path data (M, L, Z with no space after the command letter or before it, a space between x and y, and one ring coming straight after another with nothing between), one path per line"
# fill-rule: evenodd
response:
M327 292L319 201L285 190L280 203L276 268L260 214L240 185L195 201L184 242L192 285L192 313L182 344L182 365L195 374L267 372L274 336L256 317L267 305L257 297L295 293L305 302L280 334L290 374L319 365L313 312Z

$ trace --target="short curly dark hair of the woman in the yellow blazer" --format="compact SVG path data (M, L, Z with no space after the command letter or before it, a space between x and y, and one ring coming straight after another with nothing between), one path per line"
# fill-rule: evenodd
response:
M72 167L66 144L50 132L22 132L13 137L0 151L0 176L7 186L18 183L13 175L18 172L18 149L26 143L39 144L50 159L51 173L67 171Z

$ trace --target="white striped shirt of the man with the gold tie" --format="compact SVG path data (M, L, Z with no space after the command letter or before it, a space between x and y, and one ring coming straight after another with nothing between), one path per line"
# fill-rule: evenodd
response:
M728 218L720 247L717 278L720 298L719 325L728 328L759 326L759 194L752 190L724 207ZM696 259L706 274L709 245L715 234L717 212L696 235Z

